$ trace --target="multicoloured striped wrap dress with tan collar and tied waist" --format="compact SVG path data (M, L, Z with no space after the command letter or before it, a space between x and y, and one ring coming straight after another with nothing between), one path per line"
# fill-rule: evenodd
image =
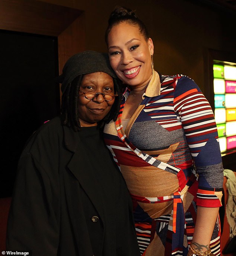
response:
M127 88L117 121L106 124L104 139L133 199L140 255L186 256L197 206L221 206L223 166L213 112L192 79L154 71L123 129L129 93ZM220 255L219 217L210 247Z

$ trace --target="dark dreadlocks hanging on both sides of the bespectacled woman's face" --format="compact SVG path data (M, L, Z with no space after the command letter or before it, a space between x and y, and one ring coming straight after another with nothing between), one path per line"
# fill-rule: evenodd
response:
M69 83L61 98L61 114L63 116L62 124L71 127L75 132L80 130L78 98L83 76L84 75L79 75ZM112 79L114 83L114 91L117 92L118 96L115 97L115 102L109 113L103 118L103 120L98 122L98 126L100 128L111 120L115 121L119 113L119 106L122 99L122 82L119 79Z

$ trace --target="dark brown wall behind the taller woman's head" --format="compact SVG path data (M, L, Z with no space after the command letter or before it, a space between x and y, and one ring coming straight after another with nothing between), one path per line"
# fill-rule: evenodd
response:
M184 74L204 84L204 51L236 53L236 11L208 0L44 0L84 10L86 49L106 51L104 33L116 5L136 10L154 42L154 67L163 74ZM217 3L217 1L213 1ZM229 23L231 23L229 25Z

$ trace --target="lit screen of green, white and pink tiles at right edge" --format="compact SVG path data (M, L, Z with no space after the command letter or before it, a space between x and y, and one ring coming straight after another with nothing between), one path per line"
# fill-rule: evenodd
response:
M236 63L214 61L214 108L221 153L236 150Z

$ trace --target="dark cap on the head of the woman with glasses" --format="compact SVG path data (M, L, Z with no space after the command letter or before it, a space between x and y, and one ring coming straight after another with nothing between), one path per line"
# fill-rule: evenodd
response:
M62 74L58 77L61 83L61 91L66 91L67 85L71 83L77 76L94 72L104 72L112 78L117 78L112 70L107 53L99 53L97 51L83 51L70 57L63 67Z

